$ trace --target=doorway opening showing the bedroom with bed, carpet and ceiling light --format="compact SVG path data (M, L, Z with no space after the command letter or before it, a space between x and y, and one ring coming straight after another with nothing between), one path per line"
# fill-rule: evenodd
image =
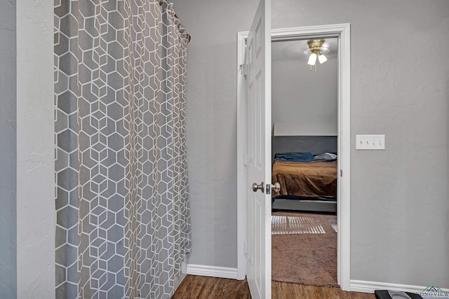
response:
M338 287L337 42L272 41L273 281Z

